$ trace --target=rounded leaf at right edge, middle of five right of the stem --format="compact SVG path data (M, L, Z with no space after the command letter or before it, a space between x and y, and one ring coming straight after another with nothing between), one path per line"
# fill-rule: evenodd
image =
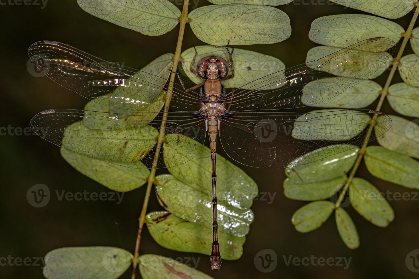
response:
M419 88L404 82L396 83L388 88L388 102L393 110L411 117L419 117Z

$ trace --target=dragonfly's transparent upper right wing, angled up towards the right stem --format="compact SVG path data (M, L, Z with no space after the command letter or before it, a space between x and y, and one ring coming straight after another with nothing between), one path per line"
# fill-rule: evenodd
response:
M285 69L235 89L224 97L231 113L268 109L300 108L323 102L371 77L392 59L395 43L371 38L321 59ZM328 78L327 82L322 79ZM305 84L318 82L304 92Z

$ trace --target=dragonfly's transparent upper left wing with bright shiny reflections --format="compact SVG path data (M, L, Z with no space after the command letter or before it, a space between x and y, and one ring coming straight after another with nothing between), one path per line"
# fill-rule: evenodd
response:
M160 111L163 107L170 69L159 77L55 41L34 43L28 54L36 67L54 82L111 108L111 112L133 112L144 107ZM176 83L172 100L194 105L202 103L198 93L184 92Z

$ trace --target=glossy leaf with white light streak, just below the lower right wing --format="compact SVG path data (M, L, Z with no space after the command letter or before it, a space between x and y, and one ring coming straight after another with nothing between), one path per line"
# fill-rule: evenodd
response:
M304 161L311 162L294 167L292 167L292 162L288 164L285 169L285 174L289 177L288 183L308 184L339 178L352 168L359 149L350 144L338 144L318 148L304 154L295 161L301 161L304 158ZM333 155L325 156L330 153Z

